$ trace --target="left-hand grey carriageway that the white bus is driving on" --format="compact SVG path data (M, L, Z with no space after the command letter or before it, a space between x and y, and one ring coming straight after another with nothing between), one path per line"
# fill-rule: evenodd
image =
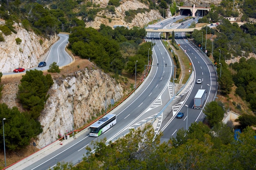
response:
M76 137L73 141L35 162L27 163L24 170L46 170L56 166L56 162L77 162L85 155L85 147L91 146L92 141L99 141L106 137L107 141L114 141L119 136L129 132L130 128L135 128L145 121L153 119L162 106L171 99L173 91L170 82L173 74L173 63L170 56L162 44L162 40L157 35L154 39L153 66L150 74L145 79L143 86L139 86L135 93L129 97L121 106L111 113L117 115L117 124L99 137L89 137L89 131ZM52 48L54 51L54 48ZM56 53L57 54L57 53ZM158 64L158 66L157 66ZM165 67L165 64L167 65ZM171 67L170 67L171 66ZM163 97L163 93L168 91L168 98Z

